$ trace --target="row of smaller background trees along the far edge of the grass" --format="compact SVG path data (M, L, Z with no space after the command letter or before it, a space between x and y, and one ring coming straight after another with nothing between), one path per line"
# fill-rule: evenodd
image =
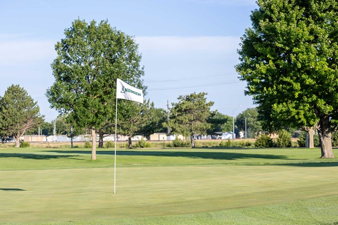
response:
M118 133L129 137L129 147L132 147L131 137L135 135L149 136L160 132L184 134L191 137L194 147L195 134L216 134L229 132L233 129L233 118L228 115L211 111L212 102L206 102L206 93L193 93L180 96L178 103L172 103L170 109L170 120L167 121L165 110L155 108L149 100L144 104L133 103L133 115L129 119L118 120ZM67 135L73 137L80 134L90 133L88 127L78 126L72 123L68 115L60 115L51 122L44 121L40 115L37 102L28 95L27 91L19 85L12 85L0 97L0 130L2 141L13 137L16 147L20 144L22 135ZM244 119L247 119L249 137L256 137L261 131L260 121L257 120L256 108L247 109L236 118L236 133L245 129ZM187 121L187 122L186 122ZM99 136L99 147L103 147L103 137L115 133L115 121L106 119L102 125L95 130Z

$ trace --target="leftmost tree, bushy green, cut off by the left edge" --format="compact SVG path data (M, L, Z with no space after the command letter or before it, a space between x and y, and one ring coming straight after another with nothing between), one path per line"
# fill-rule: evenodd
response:
M12 85L0 99L0 130L2 135L13 137L20 147L20 137L43 122L37 102L19 85Z

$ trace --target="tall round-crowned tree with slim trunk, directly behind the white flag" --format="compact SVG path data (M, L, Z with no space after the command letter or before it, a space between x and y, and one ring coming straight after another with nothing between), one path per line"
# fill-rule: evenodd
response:
M72 124L91 129L91 159L96 160L96 130L107 118L114 118L117 79L145 91L138 45L107 21L78 19L65 30L55 50L58 56L51 64L55 82L46 96ZM122 110L129 110L127 103L119 104Z

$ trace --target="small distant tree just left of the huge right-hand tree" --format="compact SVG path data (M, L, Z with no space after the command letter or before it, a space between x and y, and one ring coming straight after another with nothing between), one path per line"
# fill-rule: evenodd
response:
M257 138L262 130L261 121L258 119L257 108L248 108L236 117L236 125L239 130L245 130L245 118L247 121L247 137Z

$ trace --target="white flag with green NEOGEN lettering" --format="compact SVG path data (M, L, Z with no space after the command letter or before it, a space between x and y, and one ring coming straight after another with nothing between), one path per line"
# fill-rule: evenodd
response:
M127 99L143 104L143 92L141 89L134 88L131 85L118 79L116 84L116 98Z

